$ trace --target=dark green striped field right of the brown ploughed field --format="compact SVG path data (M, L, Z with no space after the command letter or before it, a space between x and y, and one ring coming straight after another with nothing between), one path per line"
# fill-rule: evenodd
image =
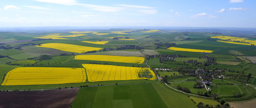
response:
M86 106L97 108L166 107L151 83L80 88L72 107L84 108Z

